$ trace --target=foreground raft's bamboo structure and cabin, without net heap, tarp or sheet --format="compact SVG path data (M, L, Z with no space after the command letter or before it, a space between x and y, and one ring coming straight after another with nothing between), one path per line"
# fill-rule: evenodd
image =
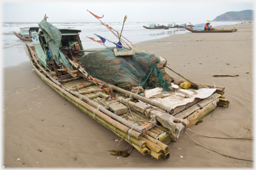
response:
M229 100L223 96L225 88L221 86L193 82L191 88L199 89L198 85L204 86L214 89L213 94L171 108L152 98L141 96L138 94L139 89L129 91L103 82L88 74L85 68L79 65L81 56L85 54L79 39L81 31L59 31L62 36L59 49L65 53L73 69L59 66L54 58L42 61L40 52L43 51L47 56L51 44L46 40L44 33L39 33L40 43L34 42L34 48L26 43L33 70L71 104L123 138L142 155L151 155L157 160L169 159L171 151L168 144L171 141L177 141L187 128L202 120L217 106L229 106ZM162 69L161 71L164 71L165 68ZM180 83L182 82L187 82L187 78L182 79Z

